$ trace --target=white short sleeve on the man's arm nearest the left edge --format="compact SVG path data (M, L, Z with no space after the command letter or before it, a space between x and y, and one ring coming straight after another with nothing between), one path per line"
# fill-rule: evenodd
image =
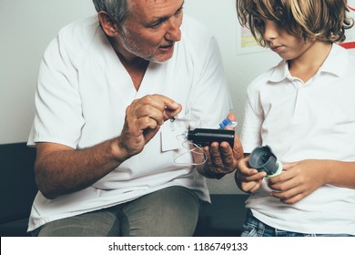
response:
M27 144L76 148L84 125L76 67L60 34L46 48L35 92L35 119Z

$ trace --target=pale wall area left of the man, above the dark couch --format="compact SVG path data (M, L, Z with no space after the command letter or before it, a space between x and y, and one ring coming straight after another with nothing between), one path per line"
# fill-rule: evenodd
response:
M89 14L90 0L0 1L0 144L27 139L44 50L60 27Z

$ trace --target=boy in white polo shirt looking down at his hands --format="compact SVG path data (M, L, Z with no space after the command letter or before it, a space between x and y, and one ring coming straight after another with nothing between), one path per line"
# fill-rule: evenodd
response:
M248 88L246 156L269 145L284 163L265 178L238 162L252 194L242 236L355 235L355 58L335 44L353 26L347 1L237 0L237 11L282 58Z

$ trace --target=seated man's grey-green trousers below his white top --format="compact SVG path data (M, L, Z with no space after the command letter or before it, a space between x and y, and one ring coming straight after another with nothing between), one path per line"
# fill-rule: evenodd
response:
M183 187L161 189L112 208L58 219L32 232L46 237L192 236L199 199Z

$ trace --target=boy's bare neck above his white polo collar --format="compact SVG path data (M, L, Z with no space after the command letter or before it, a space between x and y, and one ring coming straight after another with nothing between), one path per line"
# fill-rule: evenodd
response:
M301 56L289 60L289 73L307 82L317 74L320 66L323 65L330 54L332 44L315 41L309 49Z

